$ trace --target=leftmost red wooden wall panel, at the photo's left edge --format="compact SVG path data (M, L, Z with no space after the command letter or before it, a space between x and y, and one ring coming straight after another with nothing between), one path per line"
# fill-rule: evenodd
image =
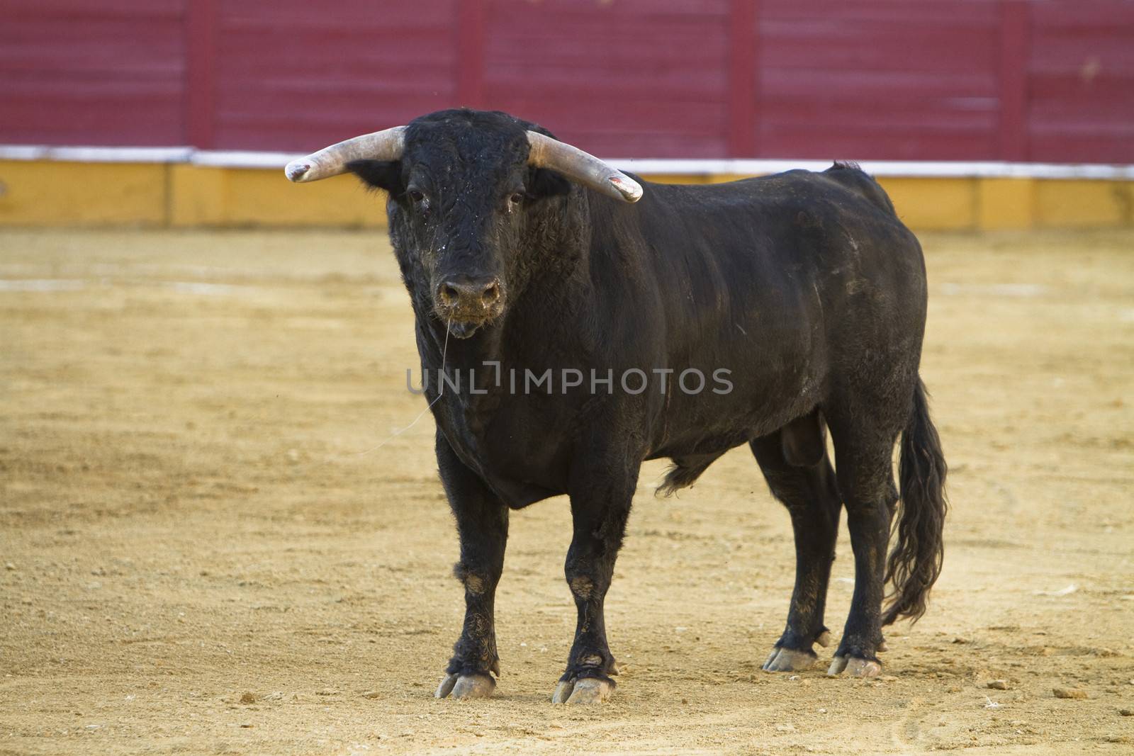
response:
M0 143L185 144L185 0L0 0Z

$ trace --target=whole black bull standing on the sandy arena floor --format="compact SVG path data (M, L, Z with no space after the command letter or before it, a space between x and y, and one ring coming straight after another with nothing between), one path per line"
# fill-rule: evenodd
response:
M606 699L617 666L603 598L642 461L672 459L661 486L672 492L743 443L795 530L787 626L764 669L810 666L813 645L827 645L845 507L855 588L829 672L877 674L882 626L920 617L941 567L946 465L917 372L917 239L854 165L643 182L631 204L530 165L527 129L548 134L503 113L443 111L408 125L397 160L348 163L389 192L460 536L465 622L437 695L494 689L508 512L566 493L578 625L553 700ZM438 380L442 364L462 390Z

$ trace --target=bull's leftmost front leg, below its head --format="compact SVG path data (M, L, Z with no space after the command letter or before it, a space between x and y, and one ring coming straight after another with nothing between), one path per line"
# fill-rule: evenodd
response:
M460 561L454 574L465 586L465 626L437 697L488 698L500 674L493 605L503 571L508 507L452 451L438 431L437 461L460 536Z

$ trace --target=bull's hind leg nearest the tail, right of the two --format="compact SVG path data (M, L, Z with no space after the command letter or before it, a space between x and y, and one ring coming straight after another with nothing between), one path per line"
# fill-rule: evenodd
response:
M854 550L854 595L828 674L845 670L856 677L873 677L881 672L875 653L885 649L881 612L886 550L898 501L891 455L900 426L863 414L831 418L830 427Z

